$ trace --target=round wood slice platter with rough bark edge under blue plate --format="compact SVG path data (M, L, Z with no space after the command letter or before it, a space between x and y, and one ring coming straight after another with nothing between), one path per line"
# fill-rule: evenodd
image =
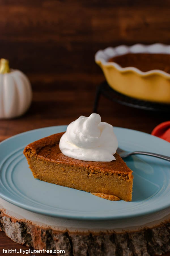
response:
M71 220L37 214L0 198L0 230L35 249L65 255L161 255L170 251L170 208L120 220Z

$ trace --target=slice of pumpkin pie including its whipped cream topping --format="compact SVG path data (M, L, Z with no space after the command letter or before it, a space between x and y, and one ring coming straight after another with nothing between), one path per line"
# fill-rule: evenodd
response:
M97 114L92 115L95 115L96 118ZM79 117L79 122L75 124L77 119L71 123L67 127L66 133L57 133L27 145L24 154L29 168L35 178L46 182L84 190L105 199L110 198L109 200L111 198L114 200L115 197L115 200L131 201L133 175L122 158L114 152L117 149L117 139L115 135L113 136L113 127L107 123L99 122L99 115L97 115L98 120L91 116ZM97 136L95 134L97 129L93 129L92 123L86 122L89 121L88 118L92 118L93 121L95 119L94 126L97 126L100 131ZM105 128L105 124L109 125L109 128ZM80 129L75 129L74 126L80 126ZM90 130L93 131L90 133ZM106 132L108 135L109 131L110 135L104 136L103 133ZM87 137L89 137L90 144L87 142ZM101 141L97 142L95 139L97 137L101 137ZM104 137L106 140L102 144ZM107 143L109 137L110 140ZM77 141L77 145L74 141ZM106 144L108 144L109 149ZM83 150L82 145L84 145L85 150ZM105 152L106 150L108 150L108 154ZM69 156L66 155L67 153Z

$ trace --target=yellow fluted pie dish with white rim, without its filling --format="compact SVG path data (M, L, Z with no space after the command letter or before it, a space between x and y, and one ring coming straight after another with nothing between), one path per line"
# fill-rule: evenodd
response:
M143 72L135 66L122 67L116 62L109 62L112 57L128 53L161 53L170 56L170 46L163 44L122 45L99 50L95 54L95 62L101 67L109 86L114 90L140 100L170 104L170 73L160 69ZM167 64L170 65L170 63Z

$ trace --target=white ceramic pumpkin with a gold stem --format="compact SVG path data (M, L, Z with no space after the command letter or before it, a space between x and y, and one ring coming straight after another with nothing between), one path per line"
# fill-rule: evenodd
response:
M31 84L20 70L9 68L8 60L0 61L0 118L18 117L29 108Z

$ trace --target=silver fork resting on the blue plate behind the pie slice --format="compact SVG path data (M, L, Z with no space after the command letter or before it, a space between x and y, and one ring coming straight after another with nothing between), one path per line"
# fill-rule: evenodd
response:
M140 154L140 155L147 155L147 156L155 156L155 157L158 157L158 158L162 158L164 160L167 160L167 161L170 161L170 157L169 156L164 156L164 155L160 155L160 154L155 154L155 153L151 153L151 152L145 152L145 151L133 151L133 152L128 152L128 151L125 151L121 148L118 148L117 149L117 153L122 157L122 158L125 158L127 156L131 156L131 155L134 155L134 154Z

